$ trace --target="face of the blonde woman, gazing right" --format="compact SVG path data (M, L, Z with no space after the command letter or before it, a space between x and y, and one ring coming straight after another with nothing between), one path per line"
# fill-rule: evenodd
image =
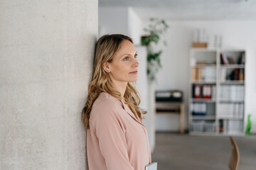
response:
M112 62L105 63L112 81L132 82L138 79L139 62L132 42L123 40L121 47L113 56Z

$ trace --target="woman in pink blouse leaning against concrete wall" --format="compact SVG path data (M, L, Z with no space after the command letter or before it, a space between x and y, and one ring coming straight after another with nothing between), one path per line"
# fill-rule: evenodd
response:
M103 35L82 110L90 170L144 170L151 151L139 95L137 51L125 35Z

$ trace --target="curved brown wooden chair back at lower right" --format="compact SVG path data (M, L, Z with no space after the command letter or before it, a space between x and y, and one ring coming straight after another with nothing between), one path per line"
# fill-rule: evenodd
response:
M233 137L231 136L230 136L230 142L232 145L232 152L231 152L228 167L230 168L230 170L238 170L238 164L239 164L239 158L240 158L238 145L233 139Z

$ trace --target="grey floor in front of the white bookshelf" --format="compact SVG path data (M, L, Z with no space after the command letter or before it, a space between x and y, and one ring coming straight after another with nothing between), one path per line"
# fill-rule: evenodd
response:
M240 150L238 170L256 169L256 135L234 137ZM228 136L191 136L157 132L152 162L158 170L228 169L231 144Z

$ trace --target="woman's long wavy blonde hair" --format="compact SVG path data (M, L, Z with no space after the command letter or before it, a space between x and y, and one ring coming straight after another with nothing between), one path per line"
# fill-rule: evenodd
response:
M112 87L112 81L107 72L103 71L103 64L105 62L112 62L113 56L119 50L119 47L121 47L123 40L132 42L131 38L121 34L103 35L97 40L92 81L88 86L87 102L82 109L82 122L85 123L86 129L90 128L89 119L92 105L101 92L106 92L115 98L122 99L124 103L129 106L134 115L137 115L141 120L144 118L142 115L145 114L146 111L142 111L139 108L140 98L135 83L128 82L124 97L122 97L119 91L114 90Z

